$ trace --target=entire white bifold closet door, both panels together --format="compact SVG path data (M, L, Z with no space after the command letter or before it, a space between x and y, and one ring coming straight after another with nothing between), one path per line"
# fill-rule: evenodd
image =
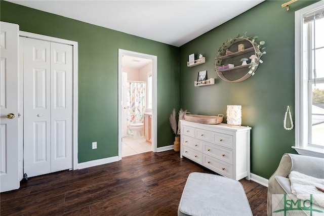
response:
M72 46L24 40L24 172L72 168Z

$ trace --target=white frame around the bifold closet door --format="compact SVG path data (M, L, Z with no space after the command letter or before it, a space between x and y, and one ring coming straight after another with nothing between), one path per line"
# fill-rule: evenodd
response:
M34 33L30 33L30 32L26 32L26 31L19 31L19 36L22 37L29 37L29 38L33 38L33 39L39 39L39 40L46 40L46 41L50 41L50 42L57 42L60 44L66 44L66 45L71 45L72 48L72 53L73 53L73 113L72 113L72 146L73 146L73 169L77 169L77 42L76 41L72 41L72 40L66 40L66 39L61 39L61 38L56 38L56 37L51 37L51 36L45 36L42 34L34 34ZM22 64L20 63L20 70L19 70L19 77L20 77L20 90L23 90L23 82L21 81L21 77L23 77L23 70L22 70ZM21 110L21 112L23 112L23 92L20 91L19 94L19 108ZM23 113L21 113L23 115ZM22 127L19 127L20 133L19 134L23 134L22 132ZM22 141L22 138L19 139L20 141ZM20 144L20 148L23 148L23 143L21 142Z

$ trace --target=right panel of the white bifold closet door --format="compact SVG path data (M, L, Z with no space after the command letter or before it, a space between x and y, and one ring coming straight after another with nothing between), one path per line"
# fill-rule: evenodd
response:
M51 171L72 168L72 46L51 42Z

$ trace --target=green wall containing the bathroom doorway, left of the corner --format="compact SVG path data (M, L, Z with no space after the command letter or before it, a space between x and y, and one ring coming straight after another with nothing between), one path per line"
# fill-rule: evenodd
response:
M157 147L172 145L179 110L179 48L1 1L1 21L78 42L78 162L118 155L118 49L157 56ZM97 141L97 149L91 143Z

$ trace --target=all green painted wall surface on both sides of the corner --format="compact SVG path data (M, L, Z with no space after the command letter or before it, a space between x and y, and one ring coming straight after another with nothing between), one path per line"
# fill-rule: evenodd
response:
M1 20L20 30L78 42L78 162L117 155L118 49L157 56L157 146L171 145L169 115L173 108L192 114L225 114L226 105L242 105L242 125L252 127L251 171L269 178L282 154L296 153L295 130L283 127L289 105L294 116L294 12L317 1L265 1L180 48L65 17L1 1ZM197 72L216 78L215 57L224 41L241 35L264 40L266 55L254 76L232 83L194 87ZM206 63L187 67L188 55ZM226 117L223 122L226 122ZM91 142L98 149L91 149Z

